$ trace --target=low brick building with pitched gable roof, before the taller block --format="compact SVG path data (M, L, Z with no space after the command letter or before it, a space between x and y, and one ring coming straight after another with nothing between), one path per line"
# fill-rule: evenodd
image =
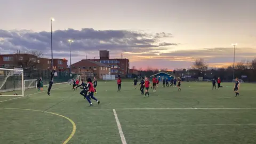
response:
M93 60L78 61L71 65L71 70L71 73L79 74L82 78L103 78L103 75L109 75L111 71L108 65Z

